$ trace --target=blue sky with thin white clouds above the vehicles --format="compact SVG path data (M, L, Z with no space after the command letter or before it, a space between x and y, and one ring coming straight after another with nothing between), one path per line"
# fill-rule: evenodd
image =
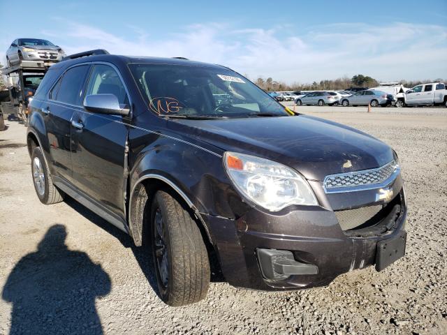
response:
M447 77L447 0L46 1L29 10L20 22L1 15L2 52L34 37L67 53L182 56L288 83Z

